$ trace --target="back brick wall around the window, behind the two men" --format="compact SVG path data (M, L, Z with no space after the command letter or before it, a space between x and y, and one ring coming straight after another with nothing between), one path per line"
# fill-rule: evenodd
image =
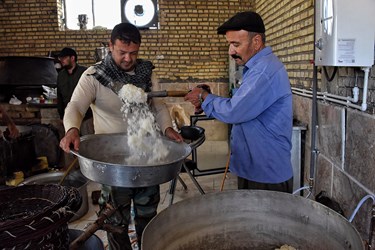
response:
M0 2L0 56L46 56L75 47L79 62L94 63L94 51L110 30L60 31L59 0ZM143 30L141 57L154 62L164 82L227 81L228 55L216 28L254 1L159 0L160 29Z

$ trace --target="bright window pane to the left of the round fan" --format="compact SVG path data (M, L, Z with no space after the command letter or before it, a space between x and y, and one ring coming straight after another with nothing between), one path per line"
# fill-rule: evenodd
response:
M65 0L65 23L68 29L112 29L120 22L119 0Z

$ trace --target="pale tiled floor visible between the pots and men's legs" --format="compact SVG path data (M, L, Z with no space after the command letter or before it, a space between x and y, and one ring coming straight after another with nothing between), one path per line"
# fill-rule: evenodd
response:
M204 159L204 160L202 160ZM204 158L202 157L200 164L207 165L212 163L212 159L210 157ZM225 159L225 157L223 158ZM202 162L205 161L205 162ZM225 166L225 160L222 162L222 166ZM173 204L179 202L184 199L188 199L197 195L201 195L197 187L192 182L191 178L187 175L187 173L180 174L181 179L186 183L187 189L185 190L181 184L181 182L177 181L175 194L173 197ZM224 173L214 174L214 175L206 175L206 176L199 176L195 177L204 192L211 193L211 192L220 192L222 182L223 182ZM226 175L224 181L224 190L229 189L236 189L237 188L237 178L228 173ZM89 211L86 215L80 218L77 221L74 221L69 224L69 228L71 229L79 229L85 230L88 225L93 223L97 219L96 212L98 211L98 206L92 204L91 200L91 192L94 190L100 189L100 184L95 182L90 182L88 187L88 196L89 196ZM171 195L169 193L170 190L170 182L161 184L160 186L160 203L158 207L158 211L162 211L163 209L167 208L170 205ZM103 230L98 230L95 233L104 243L105 249L107 247L107 237L106 232ZM137 246L134 249L138 249Z

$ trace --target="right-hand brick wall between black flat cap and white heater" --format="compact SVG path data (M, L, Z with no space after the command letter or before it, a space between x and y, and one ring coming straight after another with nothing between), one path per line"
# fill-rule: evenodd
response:
M310 87L314 51L313 0L257 0L267 44L284 62L293 86Z

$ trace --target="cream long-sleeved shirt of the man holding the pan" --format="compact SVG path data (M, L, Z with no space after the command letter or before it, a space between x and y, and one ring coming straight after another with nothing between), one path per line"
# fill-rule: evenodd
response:
M80 128L87 109L91 107L94 117L95 134L122 133L127 131L127 121L121 112L122 101L108 87L103 86L92 74L93 66L89 67L81 76L72 98L65 109L65 131ZM134 72L129 72L134 74ZM158 84L153 80L153 90ZM151 102L156 122L164 133L167 127L172 127L172 121L164 102L154 98Z

